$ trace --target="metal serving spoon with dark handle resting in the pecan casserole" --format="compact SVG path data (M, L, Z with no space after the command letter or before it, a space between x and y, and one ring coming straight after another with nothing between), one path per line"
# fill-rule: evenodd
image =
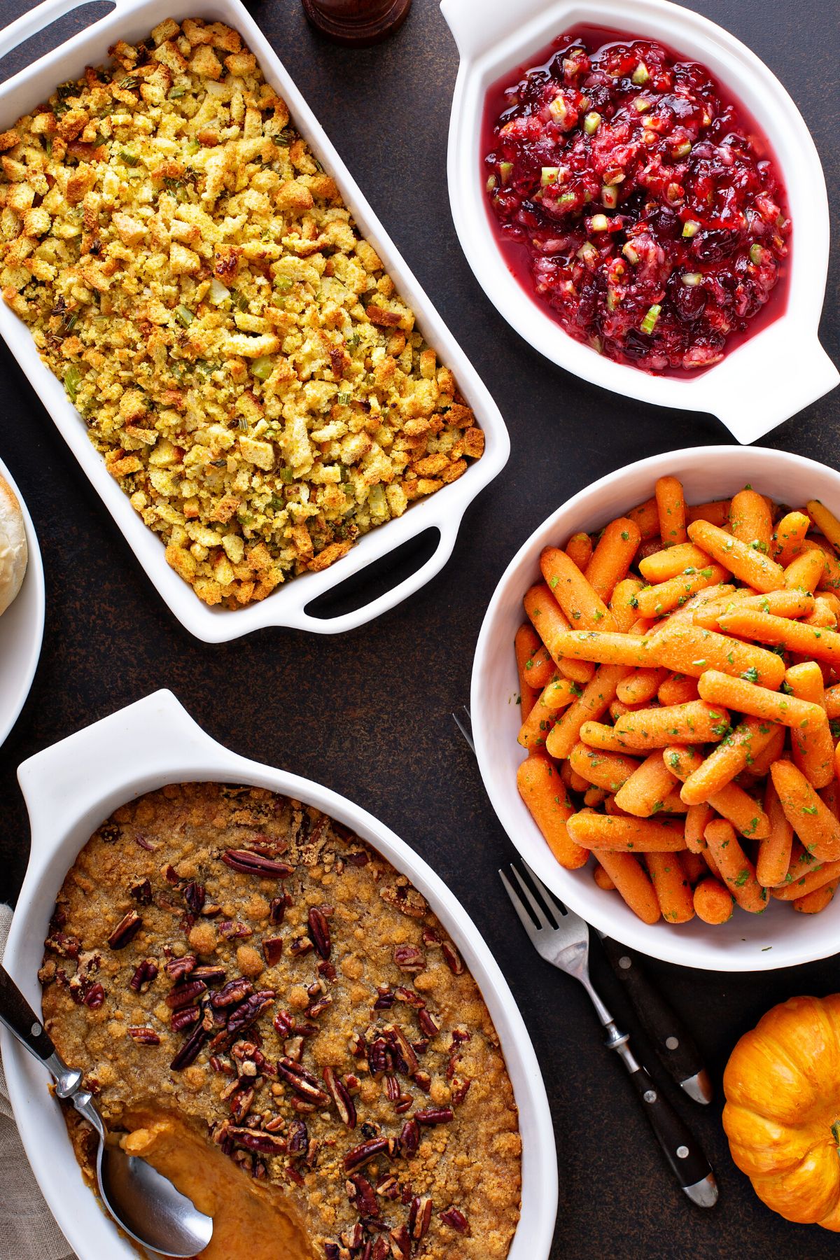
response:
M106 1144L102 1116L91 1094L82 1089L83 1074L62 1060L49 1033L3 965L0 1021L49 1068L58 1097L72 1102L96 1130L99 1194L117 1225L135 1242L165 1256L185 1257L203 1251L213 1236L213 1218L199 1212L145 1159L127 1155L121 1147Z

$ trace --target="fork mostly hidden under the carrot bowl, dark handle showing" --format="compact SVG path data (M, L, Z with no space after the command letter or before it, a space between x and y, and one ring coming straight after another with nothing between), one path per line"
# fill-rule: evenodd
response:
M453 713L452 717L475 752L470 709L465 704L461 713ZM662 1067L695 1102L710 1102L714 1091L709 1074L703 1066L694 1038L680 1017L651 984L639 959L626 945L620 945L601 930L598 936L610 965L626 989Z

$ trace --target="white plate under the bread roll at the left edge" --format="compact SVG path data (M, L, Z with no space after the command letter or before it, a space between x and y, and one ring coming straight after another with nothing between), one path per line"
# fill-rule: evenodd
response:
M0 617L0 745L20 717L38 668L44 639L44 566L35 527L6 465L0 472L18 496L26 530L26 572L18 597Z

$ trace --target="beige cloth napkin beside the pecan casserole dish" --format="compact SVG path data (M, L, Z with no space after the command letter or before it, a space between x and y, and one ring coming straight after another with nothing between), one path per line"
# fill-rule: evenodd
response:
M0 958L11 910L0 905ZM38 1188L18 1134L0 1061L0 1260L74 1260Z

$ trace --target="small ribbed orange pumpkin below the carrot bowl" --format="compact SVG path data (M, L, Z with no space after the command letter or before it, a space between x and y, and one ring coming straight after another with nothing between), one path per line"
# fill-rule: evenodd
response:
M790 998L723 1076L732 1158L780 1216L840 1231L840 993Z

